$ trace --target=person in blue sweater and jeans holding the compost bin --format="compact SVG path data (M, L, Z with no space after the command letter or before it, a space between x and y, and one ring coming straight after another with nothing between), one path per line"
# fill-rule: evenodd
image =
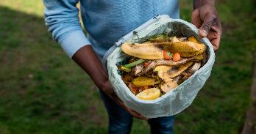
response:
M82 21L79 23L80 2ZM61 47L99 88L109 116L108 133L129 133L132 117L146 119L127 108L113 92L113 87L100 59L119 38L128 34L156 15L179 18L178 0L43 0L45 21ZM193 0L191 23L199 34L207 37L215 51L221 40L221 23L214 0ZM148 119L151 133L173 133L174 117Z

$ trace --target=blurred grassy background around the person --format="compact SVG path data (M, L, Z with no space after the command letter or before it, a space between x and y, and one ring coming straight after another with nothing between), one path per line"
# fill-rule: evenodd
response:
M180 0L190 21L192 1ZM212 75L176 116L175 133L241 133L256 51L253 0L219 0L223 36ZM132 133L149 133L134 119ZM96 86L51 38L40 0L0 0L0 133L107 133Z

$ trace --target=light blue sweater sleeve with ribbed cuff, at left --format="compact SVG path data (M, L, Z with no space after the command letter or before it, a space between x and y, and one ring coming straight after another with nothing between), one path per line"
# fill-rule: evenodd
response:
M90 45L79 23L79 0L43 0L46 26L54 40L72 57L79 48Z

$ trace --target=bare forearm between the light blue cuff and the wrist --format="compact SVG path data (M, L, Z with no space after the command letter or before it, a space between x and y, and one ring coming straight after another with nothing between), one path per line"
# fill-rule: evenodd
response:
M102 67L102 62L100 62L98 56L96 56L96 53L90 45L85 45L80 48L74 53L72 59L82 68L82 70L85 70L85 72L90 75L90 78L92 78L99 88L102 88L104 83L108 81L107 73Z

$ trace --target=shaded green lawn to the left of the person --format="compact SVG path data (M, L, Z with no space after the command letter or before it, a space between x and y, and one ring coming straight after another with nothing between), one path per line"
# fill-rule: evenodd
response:
M106 133L98 90L43 18L7 7L0 18L0 133Z

